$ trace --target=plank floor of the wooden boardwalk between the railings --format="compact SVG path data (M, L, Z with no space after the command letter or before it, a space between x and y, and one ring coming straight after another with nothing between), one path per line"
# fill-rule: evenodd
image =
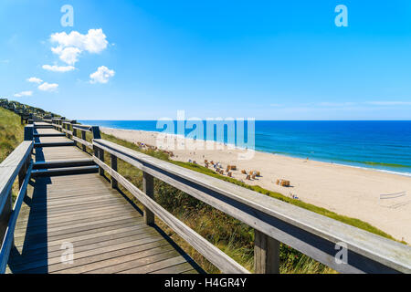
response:
M66 142L72 141L58 130L37 128L35 162L91 161L75 146L43 146ZM158 227L144 224L142 212L94 167L94 173L34 175L7 273L202 272ZM69 247L71 263L64 257Z

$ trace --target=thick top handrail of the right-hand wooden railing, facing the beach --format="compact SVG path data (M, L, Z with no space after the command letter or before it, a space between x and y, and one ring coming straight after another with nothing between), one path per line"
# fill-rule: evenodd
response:
M233 183L132 151L111 141L94 139L93 145L237 218L262 235L290 245L339 272L411 272L411 247L408 245L342 224ZM115 174L102 164L99 157L94 157L99 166ZM114 177L119 183L125 183L120 176ZM141 198L141 193L133 194ZM151 211L155 213L155 210ZM339 246L347 248L347 263L335 260L339 252L336 248Z

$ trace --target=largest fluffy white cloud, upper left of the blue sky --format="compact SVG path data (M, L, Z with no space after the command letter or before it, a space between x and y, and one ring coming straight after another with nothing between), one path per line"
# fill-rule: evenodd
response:
M50 41L58 44L57 47L52 47L51 51L68 65L74 65L83 51L97 54L103 51L108 44L101 28L90 29L87 35L82 35L78 31L72 31L69 34L55 33L50 36Z

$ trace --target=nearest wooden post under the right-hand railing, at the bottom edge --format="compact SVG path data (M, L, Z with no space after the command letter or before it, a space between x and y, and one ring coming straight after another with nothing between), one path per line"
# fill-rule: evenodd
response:
M254 229L254 273L279 274L279 241Z

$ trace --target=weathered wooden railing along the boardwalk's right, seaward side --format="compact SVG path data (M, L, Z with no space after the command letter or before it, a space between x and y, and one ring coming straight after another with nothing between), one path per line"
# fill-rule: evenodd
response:
M411 247L408 245L105 141L100 138L99 127L77 125L62 119L49 122L79 143L83 151L92 149L100 174L110 174L111 186L117 188L121 184L144 205L146 224L153 224L154 216L157 216L224 273L248 273L248 270L156 203L153 178L252 227L256 273L279 273L280 243L290 245L341 273L411 273ZM77 137L79 131L81 138ZM92 133L91 142L86 141L87 132ZM104 161L105 152L110 154L110 166ZM142 191L118 172L118 159L142 171Z

